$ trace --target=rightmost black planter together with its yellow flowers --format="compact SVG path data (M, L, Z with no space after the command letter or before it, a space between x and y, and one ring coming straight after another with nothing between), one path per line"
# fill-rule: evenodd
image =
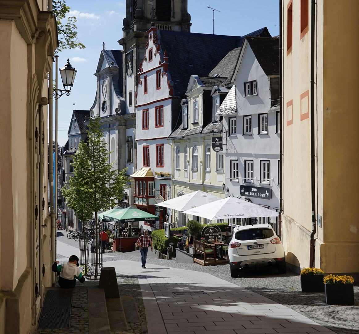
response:
M324 278L325 302L330 305L354 304L354 279L352 276L328 275Z

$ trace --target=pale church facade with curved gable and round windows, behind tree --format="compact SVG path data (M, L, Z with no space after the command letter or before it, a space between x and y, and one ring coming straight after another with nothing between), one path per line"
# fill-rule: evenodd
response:
M90 117L100 118L103 142L109 152L113 151L110 162L115 162L114 168L128 168L126 174L131 175L136 170L136 114L126 107L123 99L121 51L102 50L94 75L97 77L97 91ZM130 179L119 205L126 207L132 204L133 188Z

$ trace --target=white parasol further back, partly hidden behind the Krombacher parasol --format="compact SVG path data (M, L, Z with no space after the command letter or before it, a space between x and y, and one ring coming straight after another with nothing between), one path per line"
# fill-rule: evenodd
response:
M171 200L164 201L155 205L168 207L169 209L174 209L177 211L184 211L193 209L197 206L201 206L207 203L212 203L220 199L221 198L218 196L214 196L204 191L198 190L186 195L171 198Z

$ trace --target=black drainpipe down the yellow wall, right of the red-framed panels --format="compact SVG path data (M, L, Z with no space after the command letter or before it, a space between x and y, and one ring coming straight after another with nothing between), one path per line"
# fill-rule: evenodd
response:
M315 207L315 137L314 137L314 28L315 28L315 0L312 0L311 15L311 176L312 176L312 233L310 242L309 266L314 267L315 240L316 234L316 207Z

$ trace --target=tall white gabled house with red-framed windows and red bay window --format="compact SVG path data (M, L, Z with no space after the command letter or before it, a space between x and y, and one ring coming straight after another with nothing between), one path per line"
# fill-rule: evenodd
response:
M181 100L173 96L168 64L160 33L152 27L148 31L145 53L137 73L137 171L131 176L135 179L135 205L151 214L156 212L160 217L159 227L163 227L167 211L155 207L154 198L157 195L165 200L171 198L172 152L167 137L177 121ZM154 228L154 225L150 227Z

